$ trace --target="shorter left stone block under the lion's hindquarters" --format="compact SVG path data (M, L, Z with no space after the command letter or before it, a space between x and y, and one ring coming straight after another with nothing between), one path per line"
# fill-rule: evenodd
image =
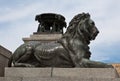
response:
M51 68L5 68L5 77L50 77Z

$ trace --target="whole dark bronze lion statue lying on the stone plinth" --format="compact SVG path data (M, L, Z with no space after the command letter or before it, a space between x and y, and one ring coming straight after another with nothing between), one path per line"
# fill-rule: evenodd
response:
M38 31L39 32L39 31ZM27 42L12 55L14 67L111 68L112 65L91 61L89 44L99 33L88 13L73 17L62 38L53 42Z

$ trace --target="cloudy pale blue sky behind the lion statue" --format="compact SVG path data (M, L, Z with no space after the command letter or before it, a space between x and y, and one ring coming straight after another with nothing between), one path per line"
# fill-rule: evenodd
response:
M89 45L91 60L120 63L120 0L0 0L0 45L14 52L37 31L38 14L61 14L68 24L82 12L100 31Z

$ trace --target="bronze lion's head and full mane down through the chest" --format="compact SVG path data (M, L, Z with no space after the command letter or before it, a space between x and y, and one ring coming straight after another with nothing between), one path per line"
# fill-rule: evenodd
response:
M88 44L99 33L93 20L88 13L78 14L70 21L67 31L59 42L72 55L78 58L90 58ZM74 58L74 57L72 57Z

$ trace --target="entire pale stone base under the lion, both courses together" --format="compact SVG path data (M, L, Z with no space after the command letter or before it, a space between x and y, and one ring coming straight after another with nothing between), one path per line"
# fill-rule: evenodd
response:
M120 81L114 68L5 68L0 81Z

